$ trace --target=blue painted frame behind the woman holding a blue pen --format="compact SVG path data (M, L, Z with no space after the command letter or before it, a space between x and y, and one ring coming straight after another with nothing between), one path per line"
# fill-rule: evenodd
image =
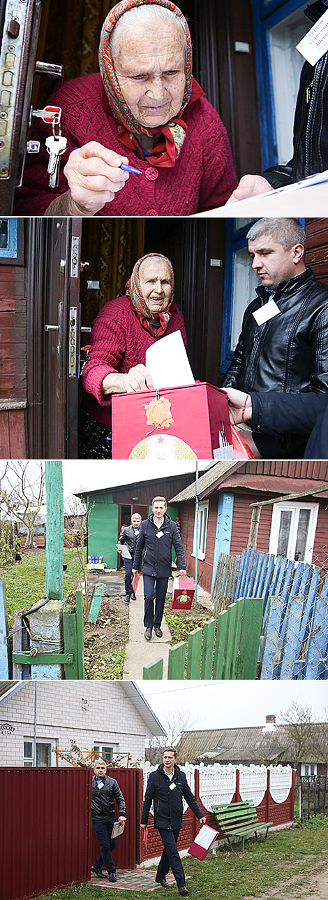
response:
M277 132L270 64L270 29L304 6L304 0L251 0L262 168L278 163ZM310 26L309 26L310 27Z

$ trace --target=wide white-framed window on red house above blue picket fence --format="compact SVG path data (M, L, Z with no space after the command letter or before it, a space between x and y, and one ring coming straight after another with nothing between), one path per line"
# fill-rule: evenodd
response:
M275 503L269 553L300 563L312 563L318 503Z

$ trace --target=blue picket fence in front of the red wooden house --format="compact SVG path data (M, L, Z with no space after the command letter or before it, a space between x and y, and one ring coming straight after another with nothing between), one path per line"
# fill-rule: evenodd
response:
M327 679L328 573L258 550L218 563L220 579L229 569L226 600L263 599L258 677ZM224 579L223 579L224 581ZM222 604L222 592L217 590Z

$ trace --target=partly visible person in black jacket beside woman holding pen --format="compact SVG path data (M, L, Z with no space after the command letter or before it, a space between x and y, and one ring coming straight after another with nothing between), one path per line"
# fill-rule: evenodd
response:
M309 29L328 9L328 0L315 0L304 14ZM229 202L244 200L270 188L285 187L328 169L328 53L315 66L305 62L299 82L294 118L293 157L286 166L270 166L262 175L243 175Z

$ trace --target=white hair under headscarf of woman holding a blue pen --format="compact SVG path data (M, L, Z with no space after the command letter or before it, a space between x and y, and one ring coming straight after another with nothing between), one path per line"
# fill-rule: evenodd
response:
M144 25L145 29L148 31L159 31L161 25L163 26L168 23L171 25L178 25L182 31L187 48L186 20L184 17L182 18L176 13L173 13L173 10L171 9L166 9L165 6L157 6L156 4L135 6L134 8L129 9L127 13L123 13L123 15L120 16L119 21L114 25L114 28L111 31L110 48L112 60L114 61L114 58L119 52L118 45L121 35L128 29L132 31L137 25Z

